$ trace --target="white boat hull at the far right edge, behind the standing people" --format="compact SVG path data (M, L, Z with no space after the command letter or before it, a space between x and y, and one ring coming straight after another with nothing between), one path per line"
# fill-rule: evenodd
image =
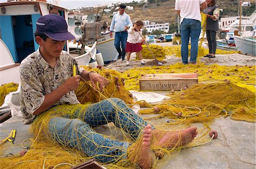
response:
M236 47L242 53L256 56L256 40L252 38L246 38L241 36L234 36Z

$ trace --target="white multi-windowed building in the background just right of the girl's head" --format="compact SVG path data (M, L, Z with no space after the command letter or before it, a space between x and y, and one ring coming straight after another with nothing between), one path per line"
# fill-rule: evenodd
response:
M149 22L149 20L144 20L144 28L147 29L148 33L151 33L154 30L159 30L159 31L164 31L168 32L169 31L169 23L155 23L155 22Z

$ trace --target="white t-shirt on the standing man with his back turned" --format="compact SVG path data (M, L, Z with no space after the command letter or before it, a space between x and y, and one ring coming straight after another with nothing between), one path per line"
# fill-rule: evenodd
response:
M180 23L184 18L201 22L200 5L205 0L176 0L175 10L180 11Z

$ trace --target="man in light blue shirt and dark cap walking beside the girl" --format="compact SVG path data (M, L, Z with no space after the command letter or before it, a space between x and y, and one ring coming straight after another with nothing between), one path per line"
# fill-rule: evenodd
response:
M112 32L115 31L115 48L117 49L118 59L122 56L122 61L125 60L125 46L127 41L127 30L133 26L130 16L125 13L126 5L120 5L118 13L113 16L110 24L110 37L113 37ZM120 48L120 41L122 50Z

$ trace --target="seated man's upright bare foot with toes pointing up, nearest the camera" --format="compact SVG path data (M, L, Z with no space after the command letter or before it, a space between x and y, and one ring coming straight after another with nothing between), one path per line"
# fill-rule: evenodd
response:
M133 145L132 149L134 149L135 151L133 153L131 152L130 154L131 160L134 163L139 164L139 166L143 169L150 168L153 164L153 158L151 154L151 132L151 125L148 124L143 129L142 142L139 142L137 145Z

